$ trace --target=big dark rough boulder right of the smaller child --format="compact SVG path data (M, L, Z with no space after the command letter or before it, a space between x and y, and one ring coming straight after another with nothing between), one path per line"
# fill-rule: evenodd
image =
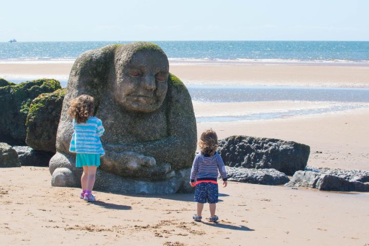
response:
M292 175L306 167L310 147L274 138L230 136L219 141L217 151L230 167L273 168Z

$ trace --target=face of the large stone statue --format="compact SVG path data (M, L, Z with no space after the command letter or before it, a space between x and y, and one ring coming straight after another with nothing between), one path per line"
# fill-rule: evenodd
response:
M114 97L128 110L153 112L160 108L168 89L168 58L158 51L138 50L128 64L117 66Z

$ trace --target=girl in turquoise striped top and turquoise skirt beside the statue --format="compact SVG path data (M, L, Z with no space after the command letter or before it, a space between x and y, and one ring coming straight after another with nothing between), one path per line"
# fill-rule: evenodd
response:
M74 129L69 151L76 153L76 167L83 168L82 192L79 198L95 201L92 189L96 169L100 166L100 156L105 154L100 141L105 131L103 123L99 118L93 117L94 98L89 95L80 95L73 99L68 113L73 118Z

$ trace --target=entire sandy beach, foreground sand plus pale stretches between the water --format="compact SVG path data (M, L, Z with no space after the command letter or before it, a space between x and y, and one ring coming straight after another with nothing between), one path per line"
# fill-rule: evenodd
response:
M72 63L0 64L0 77L68 77ZM186 85L369 88L369 66L174 65ZM194 102L197 117L325 107L303 101ZM267 120L200 122L231 135L293 140L311 147L309 166L369 171L369 108ZM321 153L320 153L321 152ZM2 245L369 245L367 193L321 192L230 182L220 188L220 222L192 221L193 194L140 196L50 186L48 168L0 169ZM204 214L209 209L206 207Z

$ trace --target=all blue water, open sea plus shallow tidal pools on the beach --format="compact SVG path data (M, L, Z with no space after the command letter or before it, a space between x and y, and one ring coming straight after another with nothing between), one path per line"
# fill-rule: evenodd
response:
M73 63L83 52L111 44L130 42L16 42L0 43L2 63ZM369 42L346 41L158 41L170 64L339 64L369 66ZM369 77L369 75L368 75ZM33 78L29 78L33 79ZM12 79L8 79L12 81ZM28 78L13 79L20 83ZM67 78L59 79L63 86ZM235 103L248 101L313 101L326 107L260 112L237 116L198 117L198 122L285 118L305 114L334 113L369 107L368 88L313 88L271 86L189 85L194 101Z

